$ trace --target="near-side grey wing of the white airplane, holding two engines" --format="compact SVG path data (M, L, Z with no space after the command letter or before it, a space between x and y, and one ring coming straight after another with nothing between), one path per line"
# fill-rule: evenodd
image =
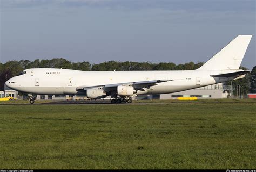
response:
M156 85L157 83L167 82L173 80L153 80L153 81L139 81L139 82L126 82L126 83L116 83L116 84L106 84L106 85L95 85L95 86L79 86L76 88L78 91L86 91L91 88L100 88L102 87L105 91L116 90L118 85L130 85L134 87L134 89L142 89L143 87L150 87Z

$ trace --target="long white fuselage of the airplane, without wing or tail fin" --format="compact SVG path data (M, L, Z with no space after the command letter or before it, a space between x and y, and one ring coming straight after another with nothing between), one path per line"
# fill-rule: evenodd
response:
M42 95L85 95L77 91L78 87L96 87L98 85L168 80L157 83L140 94L166 94L220 82L235 77L213 78L210 75L231 73L240 70L182 70L182 71L79 71L69 69L36 68L26 69L25 74L6 81L14 90Z

